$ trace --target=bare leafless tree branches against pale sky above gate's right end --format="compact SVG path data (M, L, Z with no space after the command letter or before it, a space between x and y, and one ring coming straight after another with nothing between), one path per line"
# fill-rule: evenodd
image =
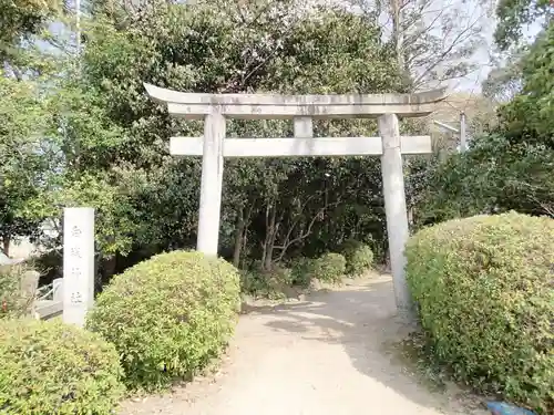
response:
M399 68L414 90L437 87L475 69L471 56L483 44L485 1L350 0L382 27Z

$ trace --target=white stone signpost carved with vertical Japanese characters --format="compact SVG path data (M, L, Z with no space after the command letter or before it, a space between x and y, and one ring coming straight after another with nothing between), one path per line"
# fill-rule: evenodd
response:
M94 303L94 209L63 211L63 322L84 325Z

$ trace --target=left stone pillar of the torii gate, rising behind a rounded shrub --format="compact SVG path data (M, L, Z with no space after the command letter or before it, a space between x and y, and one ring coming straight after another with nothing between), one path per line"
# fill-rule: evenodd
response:
M206 115L202 156L198 241L196 249L211 256L217 256L219 240L223 186L223 141L225 138L225 116L219 113Z

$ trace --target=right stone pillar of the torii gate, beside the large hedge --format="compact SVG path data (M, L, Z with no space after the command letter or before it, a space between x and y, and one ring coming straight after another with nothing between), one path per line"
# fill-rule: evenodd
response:
M394 297L399 315L411 321L413 308L404 273L409 230L398 116L384 114L379 116L378 123L382 138L381 172Z

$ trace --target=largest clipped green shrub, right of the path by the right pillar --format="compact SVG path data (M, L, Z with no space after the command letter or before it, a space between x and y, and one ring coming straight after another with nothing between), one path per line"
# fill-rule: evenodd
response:
M474 386L554 413L554 220L452 220L418 232L406 252L439 361Z

